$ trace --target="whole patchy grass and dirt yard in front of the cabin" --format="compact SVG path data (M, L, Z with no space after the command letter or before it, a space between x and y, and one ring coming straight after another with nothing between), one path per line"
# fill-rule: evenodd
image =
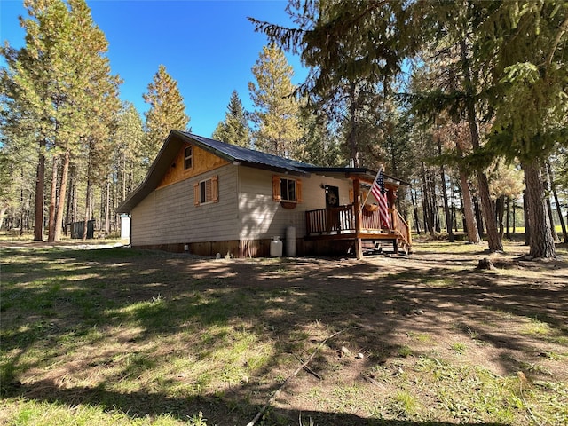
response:
M565 246L549 262L520 243L362 261L12 246L0 424L245 425L277 390L256 424L568 424Z

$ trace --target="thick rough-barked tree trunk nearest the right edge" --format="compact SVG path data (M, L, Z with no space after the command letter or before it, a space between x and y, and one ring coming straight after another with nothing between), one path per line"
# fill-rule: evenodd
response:
M544 185L542 183L541 168L533 161L523 163L525 170L526 198L528 201L527 216L529 222L529 256L537 258L556 257L556 248L550 225L548 224Z

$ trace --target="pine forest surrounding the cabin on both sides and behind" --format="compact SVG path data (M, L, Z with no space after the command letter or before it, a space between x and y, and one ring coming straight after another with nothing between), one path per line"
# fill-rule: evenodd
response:
M142 117L118 98L84 0L26 6L25 46L1 50L2 226L58 241L94 219L115 233L116 207L170 130L191 130L184 99L156 64ZM202 136L325 166L383 164L412 184L398 209L416 232L467 231L498 251L521 225L531 256L556 256L551 224L566 240L568 219L568 4L290 0L287 11L296 28L250 18L268 39L251 64L254 110L233 91ZM309 69L299 87L283 51Z

